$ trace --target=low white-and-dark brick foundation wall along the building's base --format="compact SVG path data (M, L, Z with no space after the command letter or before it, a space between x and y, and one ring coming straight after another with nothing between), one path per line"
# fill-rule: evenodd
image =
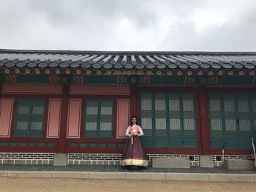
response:
M55 153L0 153L0 164L51 165ZM120 165L121 154L69 153L69 165ZM199 155L148 154L149 164L155 157L188 158L190 166L199 166ZM222 155L211 155L214 166L222 166ZM248 159L252 155L225 155L225 159Z

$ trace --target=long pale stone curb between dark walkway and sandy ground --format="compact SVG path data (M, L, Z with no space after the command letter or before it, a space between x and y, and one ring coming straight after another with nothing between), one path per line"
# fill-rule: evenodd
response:
M256 174L159 173L159 172L61 172L1 171L0 177L42 177L100 180L184 180L208 182L256 182Z

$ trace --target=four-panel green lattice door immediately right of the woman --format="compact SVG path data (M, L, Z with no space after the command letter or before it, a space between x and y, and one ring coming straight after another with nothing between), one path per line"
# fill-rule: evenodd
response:
M148 147L196 147L192 93L141 93L143 142Z

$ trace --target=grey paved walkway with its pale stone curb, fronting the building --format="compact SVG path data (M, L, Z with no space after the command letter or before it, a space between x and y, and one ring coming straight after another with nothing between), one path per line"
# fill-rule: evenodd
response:
M0 165L0 177L45 177L123 180L183 180L211 182L256 182L256 171L248 169L129 169L122 166Z

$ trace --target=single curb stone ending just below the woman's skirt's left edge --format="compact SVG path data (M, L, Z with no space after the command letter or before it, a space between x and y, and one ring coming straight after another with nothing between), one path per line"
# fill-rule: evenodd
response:
M89 179L125 179L125 172L89 172Z

